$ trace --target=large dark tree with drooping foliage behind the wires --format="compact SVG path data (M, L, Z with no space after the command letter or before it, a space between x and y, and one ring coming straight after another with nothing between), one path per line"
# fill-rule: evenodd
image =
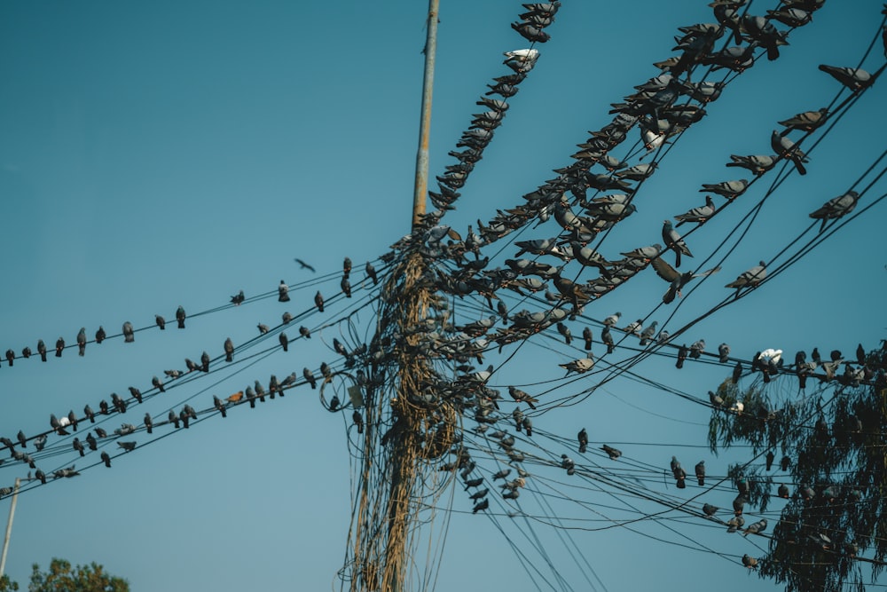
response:
M767 473L785 473L777 495L787 503L758 573L787 592L864 590L866 566L874 579L887 558L887 344L868 353L860 345L852 361L840 351L830 358L817 364L799 352L788 371L758 366L745 391L728 379L712 398L712 450L752 447L750 462L730 472L763 493L746 501L765 511L773 486ZM774 405L786 381L796 380L803 396Z

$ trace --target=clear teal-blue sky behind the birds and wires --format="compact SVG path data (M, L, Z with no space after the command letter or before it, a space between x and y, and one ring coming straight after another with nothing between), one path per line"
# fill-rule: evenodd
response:
M475 100L485 85L510 73L502 52L527 46L509 27L522 12L518 2L441 4L432 175L453 162L446 153L472 114L483 110ZM547 29L552 41L538 45L537 67L509 100L503 126L447 218L463 235L468 224L476 227L478 218L489 220L496 209L522 203L523 193L569 164L587 130L610 121L609 104L658 74L651 64L672 55L677 27L713 21L699 0L563 4ZM773 7L757 4L751 12ZM605 255L660 241L664 217L703 203L702 183L750 178L724 168L729 155L770 154L777 121L828 105L840 85L817 65L856 66L875 36L882 4L833 0L811 25L792 33L781 59L762 59L731 83L644 185L639 211L608 237ZM256 296L281 279L295 286L326 278L294 290L286 305L271 298L189 319L184 331L153 328L137 333L131 344L119 338L90 343L83 358L68 349L61 359L51 353L45 364L17 359L11 368L2 359L0 435L48 430L50 414L80 414L85 404L98 407L111 392L126 395L130 385L147 391L153 375L184 369L185 357L199 358L204 350L220 354L226 337L245 343L257 335L256 323L277 325L285 310L310 309L318 288L338 291L343 257L362 267L408 232L426 8L423 2L352 1L0 5L0 244L6 277L0 351L18 353L26 345L35 350L38 339L52 348L59 336L75 343L81 327L90 338L99 325L109 334L118 334L127 320L150 327L155 314L174 325L180 304L188 312L206 311L227 304L239 289ZM881 65L879 42L863 67ZM792 175L781 185L722 271L687 297L670 328L718 302L728 292L724 284L740 272L769 261L810 223L810 211L844 193L874 162L884 148L885 100L882 82L852 107L811 154L809 174ZM691 264L715 249L772 178L687 239L695 254ZM882 180L867 198L884 191ZM697 325L687 340L703 337L710 349L726 341L747 359L766 347L789 356L813 346L846 353L859 342L875 347L885 328L883 219L878 207L854 220L773 282ZM552 228L528 230L521 238L547 238ZM494 264L513 255L509 247ZM300 269L294 257L318 273ZM665 288L647 271L586 312L599 320L616 310L625 320L646 317ZM660 309L651 320L663 323L668 313ZM468 309L464 314L478 316ZM312 328L323 320L312 317ZM365 309L354 320L365 331L373 314ZM295 328L287 334L294 337ZM140 425L146 411L165 415L186 399L202 409L213 394L227 396L255 379L267 383L271 373L301 374L302 367L336 358L329 346L335 335L339 328L327 328L287 353L170 389L111 416L104 426ZM556 363L568 355L530 344L495 386L559 378ZM650 359L638 370L697 396L726 376L722 367L678 371L668 359ZM794 383L773 388L786 398L797 395ZM569 389L558 393L565 396ZM705 458L710 473L723 474L733 457L707 452L708 417L704 407L621 380L535 423L570 441L585 426L593 442L621 443L626 456L663 470L677 454L688 470ZM136 590L338 588L352 486L348 424L347 415L320 407L317 391L301 388L139 447L115 458L110 470L98 466L37 487L20 496L7 573L23 583L31 563L45 566L60 556L105 564ZM141 443L147 437L140 431L130 439ZM50 444L58 442L67 440L51 436ZM551 440L540 437L537 443L535 454L577 457ZM30 443L28 450L33 452ZM115 452L113 443L109 450ZM62 446L38 465L48 473L72 462L84 468L99 461L96 454L80 459ZM485 466L494 469L491 462ZM25 473L20 463L4 462L0 486ZM550 509L524 493L522 508L532 516L556 515L594 529L609 524L608 518L662 509L641 504L632 512L620 505L621 494L581 488L545 467L538 473L540 490L556 487L558 495L587 505L554 501ZM644 485L676 493L670 478ZM705 499L728 507L732 497L724 491ZM0 516L8 506L8 499L0 501ZM528 532L530 525L573 588L589 589L563 550L563 533L546 520L496 518L529 557L520 558L491 519L465 513L471 505L459 485L451 508L438 589L548 589L542 580L534 585L520 566L530 561L548 569L514 532ZM437 517L436 528L443 528L444 516ZM777 589L749 576L734 558L759 555L753 543L765 541L727 535L699 520L683 522L680 515L665 517L679 518L667 523L673 530L642 521L632 525L640 533L619 527L570 531L603 582L600 587L595 580L598 588L592 589L661 587L667 573L677 574L669 577L685 589L707 589L715 581L725 592L750 585ZM604 521L593 522L599 519ZM671 543L698 543L728 557ZM551 571L546 573L550 579Z

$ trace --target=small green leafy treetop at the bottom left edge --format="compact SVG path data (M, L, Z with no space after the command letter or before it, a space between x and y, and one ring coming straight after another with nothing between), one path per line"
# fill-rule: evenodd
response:
M18 582L8 576L0 578L0 592L18 590ZM130 583L105 572L95 562L71 567L65 559L53 558L48 572L41 572L40 565L33 565L28 592L130 592Z

